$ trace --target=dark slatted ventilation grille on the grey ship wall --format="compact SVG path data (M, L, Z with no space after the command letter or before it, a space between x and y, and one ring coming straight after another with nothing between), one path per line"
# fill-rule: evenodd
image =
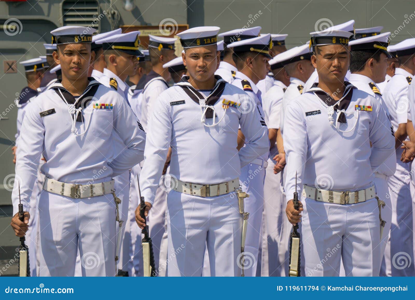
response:
M100 29L100 6L97 0L62 2L63 26L85 26Z

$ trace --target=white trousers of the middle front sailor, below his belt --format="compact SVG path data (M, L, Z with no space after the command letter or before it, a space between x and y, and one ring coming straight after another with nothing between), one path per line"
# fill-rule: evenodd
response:
M201 276L205 247L212 276L241 276L242 215L236 192L202 198L171 190L168 276Z

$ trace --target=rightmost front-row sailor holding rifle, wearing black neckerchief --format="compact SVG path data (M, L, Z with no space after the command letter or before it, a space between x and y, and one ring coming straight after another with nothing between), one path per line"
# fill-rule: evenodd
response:
M300 209L290 200L286 212L303 225L302 275L339 276L342 259L348 276L378 276L382 208L373 170L393 154L391 125L376 98L344 82L352 33L311 35L320 80L288 103L284 121L287 198L301 192Z

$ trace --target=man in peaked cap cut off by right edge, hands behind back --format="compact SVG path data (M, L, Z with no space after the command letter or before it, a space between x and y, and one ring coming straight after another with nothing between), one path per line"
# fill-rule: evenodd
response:
M413 174L411 173L411 163L401 161L404 150L400 147L402 142L409 140L408 134L411 134L411 131L408 130L408 127L413 127L409 124L414 122L413 110L411 109L414 102L409 98L408 90L415 75L415 39L405 39L396 45L389 46L388 49L396 51L400 67L395 69L395 75L386 84L383 93L383 99L388 105L395 130L396 172L388 179L393 217L381 275L415 276L414 234L411 230L413 228L413 205L410 200L412 198L410 185ZM413 122L408 122L408 120ZM413 136L410 137L411 140L413 138ZM410 154L410 151L406 152ZM401 268L397 264L397 261L402 259L402 255L408 261L408 266L405 268Z

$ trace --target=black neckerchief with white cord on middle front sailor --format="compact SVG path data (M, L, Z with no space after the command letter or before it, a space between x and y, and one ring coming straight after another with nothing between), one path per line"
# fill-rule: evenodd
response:
M206 98L206 105L215 105L217 100L219 100L220 96L222 95L223 91L225 90L226 81L222 79L222 77L215 75L216 84L213 88L212 93ZM193 88L193 86L189 83L189 76L183 76L182 79L176 83L176 85L183 88L184 92L196 103L199 104L199 100L205 98L198 90ZM213 110L208 108L205 114L206 119L213 118Z

